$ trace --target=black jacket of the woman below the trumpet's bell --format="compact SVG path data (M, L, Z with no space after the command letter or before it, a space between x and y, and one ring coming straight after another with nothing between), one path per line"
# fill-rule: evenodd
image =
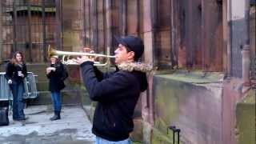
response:
M62 62L58 62L56 64L51 64L50 67L55 67L56 70L51 70L49 74L46 74L49 81L49 90L53 91L60 91L65 87L63 73L64 73L64 66Z

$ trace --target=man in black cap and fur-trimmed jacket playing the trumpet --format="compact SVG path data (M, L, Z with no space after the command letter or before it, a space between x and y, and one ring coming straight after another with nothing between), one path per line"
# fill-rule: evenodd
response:
M147 89L146 71L150 67L138 62L144 52L141 38L116 38L114 51L117 70L102 73L94 66L94 59L82 56L76 62L82 69L82 79L90 99L98 102L92 132L96 144L130 144L134 129L134 108L140 93Z

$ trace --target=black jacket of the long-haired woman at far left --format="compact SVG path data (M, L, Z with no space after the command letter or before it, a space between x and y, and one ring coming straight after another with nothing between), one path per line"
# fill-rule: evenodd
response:
M22 71L22 74L24 74L24 77L18 76L18 71ZM6 66L6 79L11 79L14 83L20 83L23 82L23 79L26 78L27 71L26 71L26 64L23 63L22 65L14 65L11 62L7 63Z

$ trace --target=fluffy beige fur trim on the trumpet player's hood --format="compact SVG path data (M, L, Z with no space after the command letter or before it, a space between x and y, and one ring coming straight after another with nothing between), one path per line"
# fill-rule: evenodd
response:
M118 69L125 71L137 70L146 73L153 70L153 66L142 62L124 62L118 65Z

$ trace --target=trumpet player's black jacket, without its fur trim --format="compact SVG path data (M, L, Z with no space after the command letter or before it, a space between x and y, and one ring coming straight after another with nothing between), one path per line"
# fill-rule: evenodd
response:
M129 138L133 131L134 108L147 88L146 73L116 70L103 74L93 62L83 62L82 78L90 99L97 101L93 133L109 141Z

